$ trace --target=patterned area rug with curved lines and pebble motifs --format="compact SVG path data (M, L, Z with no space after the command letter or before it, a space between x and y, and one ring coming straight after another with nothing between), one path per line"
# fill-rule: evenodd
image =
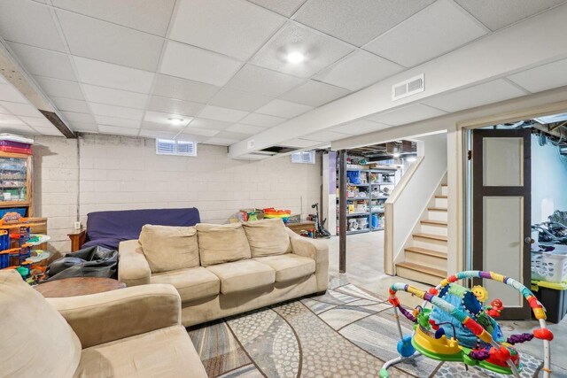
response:
M404 334L411 323L403 320ZM353 284L188 328L209 377L377 377L398 357L392 306ZM523 378L541 361L525 353ZM419 356L388 369L392 377L504 377Z

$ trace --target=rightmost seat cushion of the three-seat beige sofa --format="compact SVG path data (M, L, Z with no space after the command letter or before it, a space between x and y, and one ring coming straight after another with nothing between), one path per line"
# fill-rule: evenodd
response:
M297 280L315 274L315 260L313 258L305 258L293 253L254 258L254 260L274 269L276 271L276 282Z

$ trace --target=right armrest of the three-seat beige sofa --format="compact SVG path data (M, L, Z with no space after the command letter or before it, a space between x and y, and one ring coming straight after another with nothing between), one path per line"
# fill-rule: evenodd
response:
M325 291L329 287L329 246L320 240L300 236L286 228L290 235L291 251L299 256L315 260L315 277L317 291Z

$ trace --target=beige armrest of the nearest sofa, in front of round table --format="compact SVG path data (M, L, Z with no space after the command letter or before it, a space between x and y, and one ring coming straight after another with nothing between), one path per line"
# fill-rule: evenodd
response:
M46 299L79 336L83 349L181 324L181 297L167 284Z

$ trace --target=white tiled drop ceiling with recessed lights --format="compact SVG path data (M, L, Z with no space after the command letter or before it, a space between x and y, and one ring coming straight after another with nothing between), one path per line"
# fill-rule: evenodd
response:
M74 131L232 145L563 3L0 0L0 42ZM304 63L285 60L294 50ZM273 143L307 148L566 85L564 62ZM0 129L58 135L13 90L0 81Z

